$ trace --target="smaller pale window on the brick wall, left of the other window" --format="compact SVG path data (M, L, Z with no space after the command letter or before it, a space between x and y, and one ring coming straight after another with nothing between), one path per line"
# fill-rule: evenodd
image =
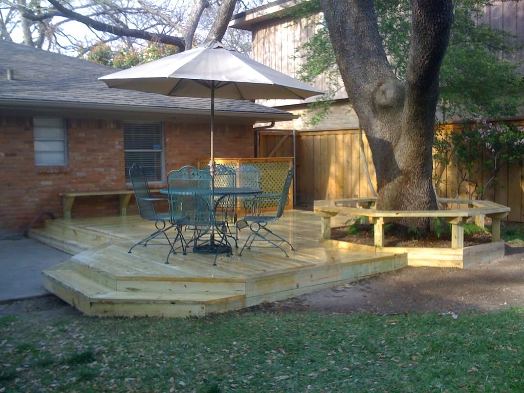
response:
M67 165L65 122L61 118L35 117L35 165Z

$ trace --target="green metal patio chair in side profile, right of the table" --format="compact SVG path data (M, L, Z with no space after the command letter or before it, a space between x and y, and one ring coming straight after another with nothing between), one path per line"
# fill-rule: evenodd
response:
M246 216L243 220L239 221L238 224L245 223L244 227L249 226L249 229L251 230L251 233L249 234L249 236L246 239L246 242L244 243L244 246L238 254L239 256L242 255L242 252L244 251L244 248L246 246L248 249L253 246L253 242L255 242L256 238L260 238L260 241L266 241L271 245L280 248L284 252L284 254L286 254L287 257L289 257L289 255L286 252L286 250L282 248L282 243L287 243L291 247L291 250L294 251L294 248L291 245L291 243L289 243L285 238L277 235L275 232L267 228L268 223L277 221L284 213L284 208L288 201L289 188L291 187L291 182L293 181L293 173L294 168L291 167L286 176L286 181L284 182L282 193L280 194L278 210L276 211L276 214L274 216L252 215ZM275 236L277 239L270 239L268 238L269 235Z

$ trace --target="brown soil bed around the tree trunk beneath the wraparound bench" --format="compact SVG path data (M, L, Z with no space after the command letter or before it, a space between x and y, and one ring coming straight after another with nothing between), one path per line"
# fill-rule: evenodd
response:
M350 234L348 233L348 229L348 226L332 228L331 238L333 240L364 244L366 246L373 246L375 244L372 225L358 225L355 228L358 234ZM491 234L488 232L464 234L464 246L466 247L489 242L491 242ZM426 236L418 236L417 234L409 233L406 230L395 228L385 232L384 245L386 247L450 248L451 233L443 233L440 237L434 233L430 233Z

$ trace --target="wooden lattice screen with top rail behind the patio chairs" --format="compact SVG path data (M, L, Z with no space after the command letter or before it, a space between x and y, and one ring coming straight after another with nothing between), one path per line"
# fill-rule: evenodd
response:
M209 158L199 158L199 169L208 166ZM260 169L260 188L265 194L281 194L282 187L286 181L289 168L293 165L293 157L278 158L215 158L215 164L222 164L227 167L236 169L245 164L251 164ZM267 199L263 208L277 208L278 199ZM293 208L293 185L289 188L288 203L286 209Z

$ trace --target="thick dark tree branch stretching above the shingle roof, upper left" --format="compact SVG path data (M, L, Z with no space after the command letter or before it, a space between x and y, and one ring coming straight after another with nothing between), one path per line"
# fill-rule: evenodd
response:
M179 47L181 50L184 50L185 44L183 38L181 37L168 36L165 34L155 34L145 30L129 29L125 27L108 25L90 17L78 14L73 10L64 7L57 0L49 0L49 3L51 3L57 10L59 10L59 12L63 16L77 20L80 23L83 23L86 26L90 26L96 30L108 32L117 36L134 37L145 39L148 41L167 43L168 45L174 45L176 47Z

